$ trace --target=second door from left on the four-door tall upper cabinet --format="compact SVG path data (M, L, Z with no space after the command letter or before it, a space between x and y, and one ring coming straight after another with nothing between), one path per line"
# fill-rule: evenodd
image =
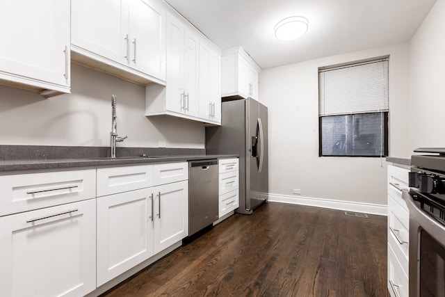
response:
M197 35L186 29L185 35L185 110L188 115L199 116L199 45Z

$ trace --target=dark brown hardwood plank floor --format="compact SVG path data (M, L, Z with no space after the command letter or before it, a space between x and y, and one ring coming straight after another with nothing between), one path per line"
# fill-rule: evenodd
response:
M103 296L389 296L387 218L269 202Z

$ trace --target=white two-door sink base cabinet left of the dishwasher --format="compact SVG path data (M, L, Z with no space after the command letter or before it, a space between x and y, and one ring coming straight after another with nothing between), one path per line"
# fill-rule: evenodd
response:
M124 177L127 187L125 192L97 198L97 287L188 235L186 165L181 162L97 170L98 181ZM138 188L139 181L155 186ZM101 185L109 188L108 184L98 182L97 192L102 193ZM132 191L131 184L135 187Z

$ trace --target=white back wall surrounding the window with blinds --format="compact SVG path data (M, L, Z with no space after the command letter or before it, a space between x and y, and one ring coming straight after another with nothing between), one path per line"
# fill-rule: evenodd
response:
M263 70L260 101L269 115L269 190L309 198L387 204L386 162L318 156L318 67L390 55L390 154L407 155L407 43ZM298 197L298 196L294 196Z

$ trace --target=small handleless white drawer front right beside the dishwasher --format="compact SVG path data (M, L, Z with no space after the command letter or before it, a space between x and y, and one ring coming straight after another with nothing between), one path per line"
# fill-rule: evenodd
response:
M154 186L188 179L188 162L155 164Z

